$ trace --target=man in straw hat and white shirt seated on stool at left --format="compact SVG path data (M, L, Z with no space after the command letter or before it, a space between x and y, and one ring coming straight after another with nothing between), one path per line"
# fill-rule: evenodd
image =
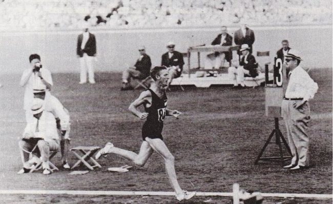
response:
M49 166L50 151L59 149L59 137L55 119L52 113L44 111L44 101L35 99L31 107L32 119L27 123L22 137L18 142L23 162L23 169L18 174L28 173L31 169L29 156L35 150L39 151L43 174L51 174ZM65 135L66 131L63 132ZM38 149L37 149L38 148Z

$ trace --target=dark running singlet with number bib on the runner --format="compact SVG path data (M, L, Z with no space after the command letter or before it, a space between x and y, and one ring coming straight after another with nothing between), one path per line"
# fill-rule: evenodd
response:
M163 97L160 98L154 91L148 89L152 93L152 105L149 108L144 107L145 112L148 113L147 120L142 127L142 139L146 137L163 140L163 120L166 113L166 94L164 92Z

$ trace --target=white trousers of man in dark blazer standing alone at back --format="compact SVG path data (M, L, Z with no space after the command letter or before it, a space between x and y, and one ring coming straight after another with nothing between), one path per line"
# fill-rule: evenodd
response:
M87 53L84 53L82 57L80 57L80 83L87 82L87 71L89 82L94 83L94 67L93 67L93 58L92 56L88 56Z

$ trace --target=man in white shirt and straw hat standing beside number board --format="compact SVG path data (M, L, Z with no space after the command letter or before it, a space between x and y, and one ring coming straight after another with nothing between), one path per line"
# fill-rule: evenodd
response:
M302 59L297 50L290 49L284 56L286 68L289 70L289 83L281 108L293 158L291 164L283 168L290 170L304 169L309 165L309 136L307 131L310 120L310 106L308 100L315 96L318 85L299 66Z

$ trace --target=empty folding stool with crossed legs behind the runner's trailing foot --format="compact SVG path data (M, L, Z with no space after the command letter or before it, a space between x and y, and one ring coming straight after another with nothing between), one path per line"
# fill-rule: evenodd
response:
M78 158L78 161L71 169L74 169L75 167L79 166L81 163L86 165L86 167L88 167L88 169L90 170L94 170L95 167L101 168L98 162L92 158L92 156L94 156L94 154L99 149L100 147L82 147L82 146L72 148L71 151ZM82 156L80 155L80 153L82 154ZM91 166L88 163L89 160L93 163L93 166Z

